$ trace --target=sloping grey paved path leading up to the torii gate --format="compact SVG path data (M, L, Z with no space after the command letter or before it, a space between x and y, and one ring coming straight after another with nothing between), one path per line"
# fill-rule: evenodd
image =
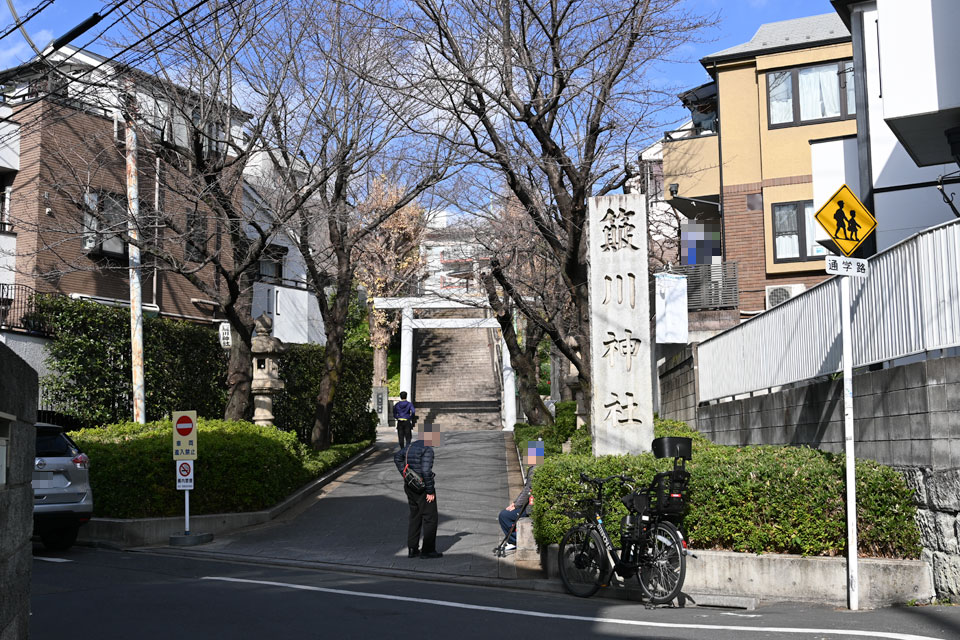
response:
M436 448L434 471L443 558L407 558L409 507L393 463L396 431L377 450L275 521L219 535L192 552L261 561L319 562L476 578L516 578L513 556L498 559L497 513L510 500L508 468L518 467L501 431L451 432ZM509 466L508 466L509 463Z

